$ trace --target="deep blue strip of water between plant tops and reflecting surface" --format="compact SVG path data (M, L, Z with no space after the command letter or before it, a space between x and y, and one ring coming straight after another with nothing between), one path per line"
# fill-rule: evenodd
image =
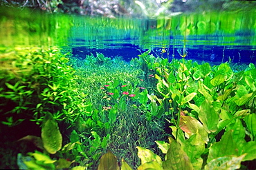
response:
M202 47L203 46L203 47ZM255 50L248 50L246 46L239 46L237 48L228 48L225 46L205 46L199 45L198 48L186 48L188 55L185 59L191 59L196 61L206 61L212 63L225 63L231 61L232 63L256 63ZM244 50L241 50L243 49ZM247 49L247 50L246 50ZM73 47L73 55L78 59L85 59L86 55L91 53L95 55L96 52L104 54L107 57L122 56L125 61L130 61L132 58L138 57L141 52L145 52L148 49L140 49L139 45L123 43L120 47L113 45L111 48L95 49L88 47ZM166 52L161 53L161 47L152 48L151 54L154 56L163 56L167 59L181 59L179 50L181 48L165 47ZM169 52L168 52L169 51ZM174 53L173 53L174 52Z

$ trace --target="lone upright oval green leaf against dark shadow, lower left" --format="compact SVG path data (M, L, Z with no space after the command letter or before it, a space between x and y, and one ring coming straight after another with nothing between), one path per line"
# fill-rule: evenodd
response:
M41 133L44 148L48 153L55 154L62 148L62 134L51 114L44 116Z

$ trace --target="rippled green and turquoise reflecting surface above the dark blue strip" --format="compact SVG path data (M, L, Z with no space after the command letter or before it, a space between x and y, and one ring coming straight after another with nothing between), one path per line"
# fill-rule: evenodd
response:
M181 14L165 19L108 19L0 9L0 45L72 45L104 49L226 46L255 50L253 12Z

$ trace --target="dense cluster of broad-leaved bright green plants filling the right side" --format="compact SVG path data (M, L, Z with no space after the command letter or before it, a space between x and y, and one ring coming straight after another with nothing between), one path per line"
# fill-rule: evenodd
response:
M140 56L143 67L158 80L156 94L148 95L151 113L170 116L172 137L156 141L163 160L137 147L138 169L239 169L255 160L255 65L233 72L228 63L168 63L148 54Z

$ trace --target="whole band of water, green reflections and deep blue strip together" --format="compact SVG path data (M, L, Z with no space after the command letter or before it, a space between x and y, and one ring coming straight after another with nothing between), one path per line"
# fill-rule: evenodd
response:
M100 52L129 61L149 48L155 56L221 63L256 63L253 13L181 14L166 19L107 19L0 9L0 46L58 45L75 57ZM33 16L33 17L31 17Z

